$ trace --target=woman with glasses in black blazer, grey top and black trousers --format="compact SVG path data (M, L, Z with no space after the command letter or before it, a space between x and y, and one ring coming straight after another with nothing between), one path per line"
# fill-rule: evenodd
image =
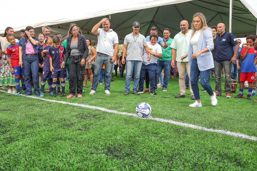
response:
M64 61L61 63L61 67L65 67L65 64L69 58L70 75L70 92L67 98L73 98L76 94L78 98L82 98L83 80L85 76L85 60L88 57L88 45L86 37L79 34L78 26L74 23L70 24L69 32L71 36L67 37L67 53Z

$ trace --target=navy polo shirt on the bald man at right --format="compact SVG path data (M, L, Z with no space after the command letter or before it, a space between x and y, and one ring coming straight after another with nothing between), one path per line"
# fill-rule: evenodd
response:
M237 45L237 39L232 33L225 32L221 36L218 34L216 37L217 52L215 56L215 61L230 61L234 55L233 46L235 45Z

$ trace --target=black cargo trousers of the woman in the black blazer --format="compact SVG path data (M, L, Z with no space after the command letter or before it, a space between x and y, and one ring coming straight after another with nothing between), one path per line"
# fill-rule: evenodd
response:
M69 94L75 95L76 88L77 94L82 95L83 81L85 77L85 65L81 66L81 55L71 55L69 56L69 84L70 91Z

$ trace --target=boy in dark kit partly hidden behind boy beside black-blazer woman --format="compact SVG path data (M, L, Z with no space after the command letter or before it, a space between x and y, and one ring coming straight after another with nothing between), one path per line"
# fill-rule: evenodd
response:
M44 62L44 66L43 66L43 79L41 81L41 92L40 92L39 97L44 97L44 89L45 89L46 80L49 85L50 95L53 95L53 91L52 91L52 87L51 87L52 78L51 78L51 72L50 72L50 61L49 61L49 57L47 56L50 47L54 46L53 37L54 37L54 35L49 35L48 39L46 40L46 45L49 45L49 46L44 47L42 54L41 54L42 58L45 62Z

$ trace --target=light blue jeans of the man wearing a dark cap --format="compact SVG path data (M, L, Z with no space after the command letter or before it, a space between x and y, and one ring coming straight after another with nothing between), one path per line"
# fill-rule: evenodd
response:
M126 81L125 81L126 92L129 92L130 90L130 82L131 82L133 70L135 70L133 91L137 91L141 67L142 67L142 61L126 61Z

